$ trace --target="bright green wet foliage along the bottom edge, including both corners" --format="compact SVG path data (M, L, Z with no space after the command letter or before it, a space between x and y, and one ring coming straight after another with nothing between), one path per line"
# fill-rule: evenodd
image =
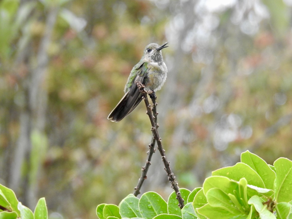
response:
M292 219L292 161L281 157L272 166L246 151L241 162L213 171L202 188L182 188L180 193L185 200L182 209L174 192L167 202L156 192L146 192L140 199L129 194L119 206L100 204L96 213L100 219ZM47 219L46 201L39 199L33 213L11 189L0 185L2 218Z

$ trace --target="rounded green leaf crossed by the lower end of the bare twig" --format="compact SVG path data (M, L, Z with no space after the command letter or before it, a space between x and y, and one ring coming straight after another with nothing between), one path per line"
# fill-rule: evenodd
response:
M184 200L187 200L187 197L190 195L191 191L187 190L187 189L184 189L184 188L181 188L179 190L180 190L180 195L182 196L182 198ZM178 216L182 216L181 209L178 206L178 199L176 199L176 194L175 194L174 191L168 197L167 211L168 211L169 214L175 214L175 215L178 215Z

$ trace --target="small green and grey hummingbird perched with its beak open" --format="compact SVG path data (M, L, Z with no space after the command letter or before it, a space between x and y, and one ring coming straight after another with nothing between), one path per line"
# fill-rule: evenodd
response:
M151 43L145 47L141 60L133 67L128 77L124 92L125 95L109 114L107 119L113 122L121 121L135 109L142 100L142 94L136 85L141 82L145 91L159 91L167 77L167 67L163 61L161 49L166 48Z

